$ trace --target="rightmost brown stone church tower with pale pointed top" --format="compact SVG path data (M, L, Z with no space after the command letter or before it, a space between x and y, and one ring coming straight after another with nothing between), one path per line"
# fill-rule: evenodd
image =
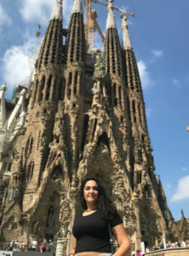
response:
M129 38L128 17L126 14L123 14L121 18L123 20L123 60L127 87L127 106L129 109L129 123L131 125L129 143L131 147L130 165L133 172L133 195L138 195L135 198L135 216L137 218L135 241L137 247L140 247L140 241L146 241L147 244L152 240L151 243L157 243L159 238L155 234L158 234L159 229L164 230L163 232L168 232L169 226L166 223L166 218L159 201L159 191L162 192L163 188L160 182L158 183L154 174L155 166L146 124L145 102L135 52ZM161 189L159 186L161 186ZM156 213L149 209L149 205L156 209ZM148 210L146 210L147 208ZM156 214L158 214L157 224L154 223Z

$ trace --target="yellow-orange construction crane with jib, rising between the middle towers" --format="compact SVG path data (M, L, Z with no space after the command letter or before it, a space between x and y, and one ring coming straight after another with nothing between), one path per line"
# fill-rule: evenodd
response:
M100 38L102 40L102 43L105 41L105 37L100 29L100 26L96 20L98 18L98 15L96 11L93 9L92 5L90 2L93 3L100 3L104 6L108 6L108 3L104 3L100 0L84 0L85 4L85 39L88 45L88 49L93 49L94 48L94 32L97 30L100 34ZM120 12L123 12L124 14L131 15L135 17L135 14L129 13L128 11L124 9L120 9L117 6L112 5L113 9L116 9Z

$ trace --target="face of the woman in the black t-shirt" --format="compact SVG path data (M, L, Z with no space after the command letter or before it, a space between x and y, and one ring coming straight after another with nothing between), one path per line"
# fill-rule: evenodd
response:
M98 185L94 180L85 183L83 196L87 204L96 204L99 199Z

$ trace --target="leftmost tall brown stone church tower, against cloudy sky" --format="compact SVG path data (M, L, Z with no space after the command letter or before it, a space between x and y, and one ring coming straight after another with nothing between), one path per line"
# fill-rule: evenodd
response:
M30 214L32 218L32 211L37 207L37 192L43 183L49 145L54 138L55 113L61 107L58 102L63 99L62 21L62 0L57 0L36 63L26 131L20 135L13 151L12 175L2 225L6 226L13 215L17 227L19 222L22 224L20 237L25 239L26 234L33 232L33 226L38 225L36 232L40 230L40 221L31 219L28 225L26 218L21 216L30 209L25 216ZM44 232L43 229L41 231ZM17 238L18 232L14 230L11 233L5 229L3 237L9 241Z

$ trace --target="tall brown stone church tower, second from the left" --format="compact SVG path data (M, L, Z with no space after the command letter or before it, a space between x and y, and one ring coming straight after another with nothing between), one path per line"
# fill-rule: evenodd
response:
M68 26L65 52L65 125L69 170L76 172L81 154L83 136L83 93L85 73L85 39L83 7L75 0Z

